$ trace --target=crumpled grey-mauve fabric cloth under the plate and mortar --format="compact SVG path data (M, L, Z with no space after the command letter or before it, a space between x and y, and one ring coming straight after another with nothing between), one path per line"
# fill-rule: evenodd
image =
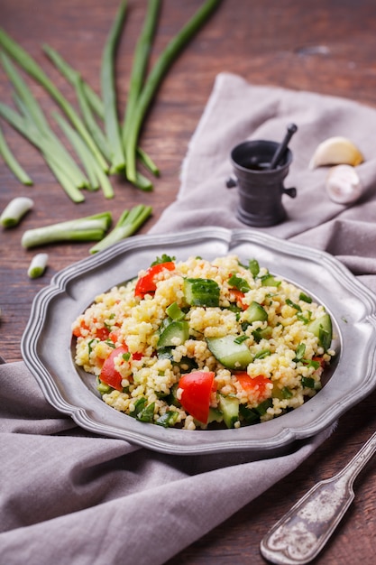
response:
M219 75L183 163L178 199L151 233L244 227L235 218L236 190L225 187L230 150L246 139L279 141L290 122L298 133L286 186L298 197L284 203L287 221L262 229L326 249L376 290L376 111L348 100ZM366 159L358 167L365 191L352 207L326 197L325 170L307 170L316 144L337 134L353 139ZM23 362L0 365L0 381L0 554L7 565L164 563L297 468L332 431L272 460L170 456L79 429L46 402Z

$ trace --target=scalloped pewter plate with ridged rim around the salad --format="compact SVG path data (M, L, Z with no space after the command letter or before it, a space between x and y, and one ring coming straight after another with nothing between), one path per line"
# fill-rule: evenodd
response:
M71 323L97 294L132 279L163 253L181 261L190 255L212 260L235 254L244 263L256 258L324 304L334 323L336 356L322 390L293 412L238 430L164 429L107 406L93 375L74 364ZM371 393L376 386L375 330L375 295L332 255L250 229L205 227L133 236L57 273L33 301L22 352L46 399L87 431L170 454L247 451L266 458L324 431Z

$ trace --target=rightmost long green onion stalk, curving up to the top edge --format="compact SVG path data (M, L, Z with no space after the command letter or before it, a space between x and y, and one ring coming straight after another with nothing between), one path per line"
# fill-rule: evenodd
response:
M152 98L160 86L161 79L163 79L179 51L198 32L220 2L221 0L206 0L188 23L170 40L153 65L138 98L125 142L126 175L129 181L134 182L136 178L136 146L138 138L144 117L151 105Z

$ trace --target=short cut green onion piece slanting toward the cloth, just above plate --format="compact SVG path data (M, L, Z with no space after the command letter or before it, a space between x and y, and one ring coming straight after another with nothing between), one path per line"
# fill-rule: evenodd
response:
M114 229L99 241L96 245L91 247L90 253L94 254L102 251L109 245L113 245L125 237L133 236L133 234L142 227L145 221L151 216L151 206L135 206L131 210L124 210L119 218Z

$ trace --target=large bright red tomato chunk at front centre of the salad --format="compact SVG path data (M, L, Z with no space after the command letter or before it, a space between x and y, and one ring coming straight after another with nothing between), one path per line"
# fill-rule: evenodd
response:
M214 390L215 374L210 371L193 371L182 375L179 388L182 390L180 403L193 418L202 423L209 416L210 396Z

